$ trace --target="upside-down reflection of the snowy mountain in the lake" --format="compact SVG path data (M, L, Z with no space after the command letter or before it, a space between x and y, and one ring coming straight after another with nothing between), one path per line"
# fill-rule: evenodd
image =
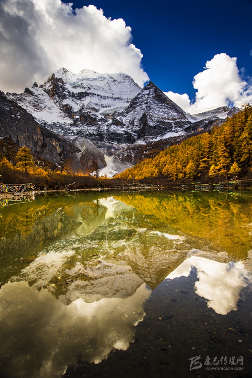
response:
M64 211L80 224L74 234L44 248L12 280L46 287L67 304L130 296L143 282L154 288L188 252L180 235L138 228L135 209L113 197Z

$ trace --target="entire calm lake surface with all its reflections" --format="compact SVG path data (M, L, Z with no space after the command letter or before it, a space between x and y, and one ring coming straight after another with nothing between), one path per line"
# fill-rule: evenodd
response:
M1 377L252 376L252 196L0 202Z

